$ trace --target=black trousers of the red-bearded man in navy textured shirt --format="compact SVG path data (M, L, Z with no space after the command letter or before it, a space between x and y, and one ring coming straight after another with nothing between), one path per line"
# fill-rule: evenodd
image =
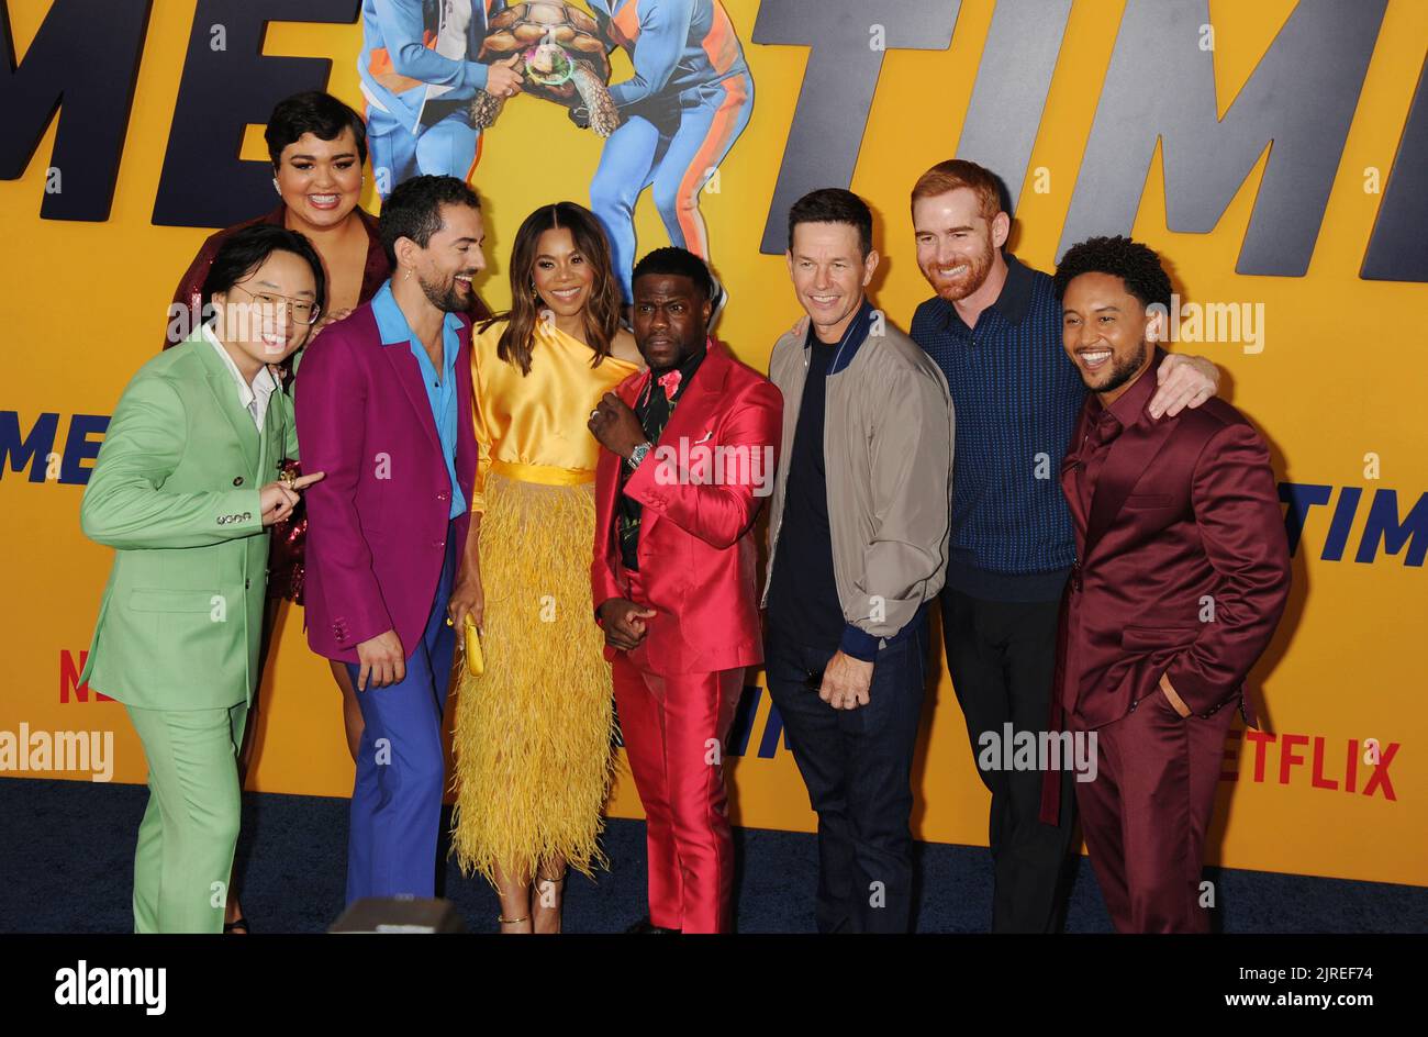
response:
M1061 773L1061 818L1040 820L1042 771L984 767L984 733L1044 731L1051 717L1060 601L985 601L945 587L942 644L982 784L991 791L987 828L995 874L994 933L1060 933L1070 896L1074 776Z

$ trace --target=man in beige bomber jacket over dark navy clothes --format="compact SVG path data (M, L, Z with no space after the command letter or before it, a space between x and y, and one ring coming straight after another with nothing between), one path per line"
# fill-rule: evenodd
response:
M823 933L911 926L911 768L927 603L947 570L952 404L864 289L873 216L827 189L788 213L807 333L774 346L784 449L768 518L764 666L818 813Z

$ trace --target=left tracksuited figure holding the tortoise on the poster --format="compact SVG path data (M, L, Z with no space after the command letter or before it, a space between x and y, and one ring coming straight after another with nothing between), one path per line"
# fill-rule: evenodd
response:
M420 173L470 179L480 131L467 106L487 79L476 56L503 10L504 0L363 0L357 73L383 199Z

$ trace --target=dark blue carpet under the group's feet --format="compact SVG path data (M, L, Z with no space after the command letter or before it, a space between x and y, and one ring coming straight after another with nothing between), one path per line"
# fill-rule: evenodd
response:
M0 931L131 930L134 836L143 786L0 780ZM238 888L257 933L321 933L343 908L347 800L276 793L244 796ZM743 933L813 931L817 848L803 833L735 828L735 907ZM571 874L567 933L620 931L645 914L644 823L611 820L610 873ZM991 906L991 858L982 847L917 844L922 933L982 933ZM1225 933L1421 933L1428 888L1210 868ZM444 896L467 928L496 931L496 896L481 880L446 870ZM1067 928L1111 931L1090 863L1071 890Z

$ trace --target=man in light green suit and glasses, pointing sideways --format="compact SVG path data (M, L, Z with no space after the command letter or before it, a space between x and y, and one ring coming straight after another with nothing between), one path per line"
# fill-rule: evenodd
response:
M114 410L80 507L117 550L81 681L129 710L149 758L134 930L220 933L238 836L237 747L258 673L268 537L311 473L277 364L326 299L301 234L253 227L214 259L216 316L144 364Z

